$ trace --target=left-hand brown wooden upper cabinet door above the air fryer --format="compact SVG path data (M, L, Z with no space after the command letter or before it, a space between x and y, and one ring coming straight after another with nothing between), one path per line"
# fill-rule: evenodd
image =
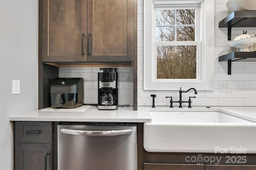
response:
M42 0L42 61L86 61L86 0Z

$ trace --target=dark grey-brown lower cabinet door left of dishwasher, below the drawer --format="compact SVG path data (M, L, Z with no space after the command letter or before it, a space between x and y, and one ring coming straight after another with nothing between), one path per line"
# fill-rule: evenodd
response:
M52 170L52 144L15 144L15 170Z

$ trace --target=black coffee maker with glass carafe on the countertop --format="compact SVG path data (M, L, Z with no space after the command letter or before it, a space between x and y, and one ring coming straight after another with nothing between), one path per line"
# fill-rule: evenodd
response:
M98 109L118 109L117 68L100 68L98 73Z

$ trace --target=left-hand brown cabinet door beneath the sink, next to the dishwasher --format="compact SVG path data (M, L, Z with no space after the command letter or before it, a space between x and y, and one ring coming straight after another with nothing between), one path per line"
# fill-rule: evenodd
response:
M144 170L204 170L204 165L144 163Z

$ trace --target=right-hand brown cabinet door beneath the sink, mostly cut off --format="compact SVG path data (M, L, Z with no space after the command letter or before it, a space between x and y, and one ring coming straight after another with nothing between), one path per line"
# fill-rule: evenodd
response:
M256 165L206 165L205 170L256 170Z

